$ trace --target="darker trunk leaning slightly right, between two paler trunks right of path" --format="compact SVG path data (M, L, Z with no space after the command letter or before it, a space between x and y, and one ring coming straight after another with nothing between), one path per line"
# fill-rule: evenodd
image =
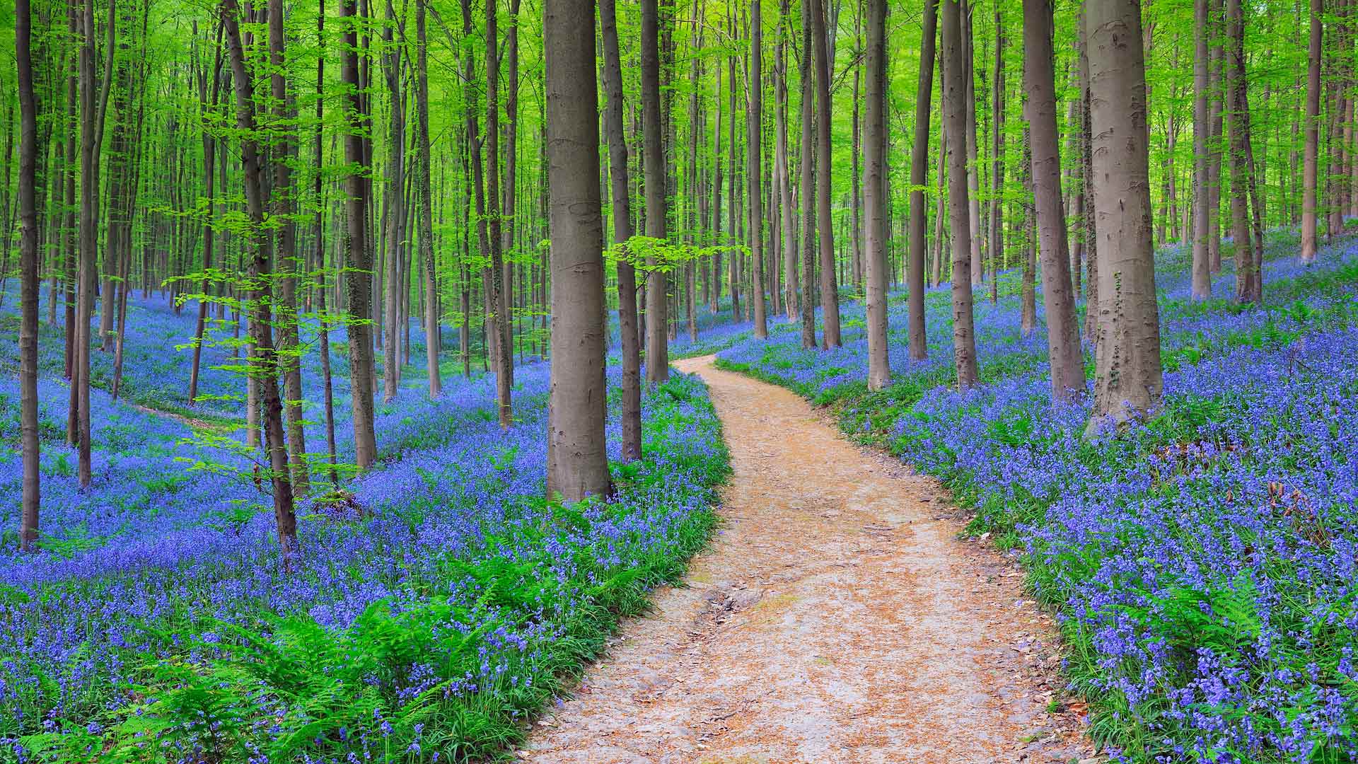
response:
M915 143L910 154L910 272L909 272L909 343L910 359L929 358L925 334L925 174L929 171L929 106L933 101L933 69L938 39L938 0L925 0L923 37L919 42L919 84L915 87ZM938 141L940 152L944 141ZM940 162L941 166L941 162ZM940 173L941 174L941 173ZM942 189L940 197L942 196ZM942 247L938 247L942 251ZM941 257L936 256L934 272ZM938 277L934 276L934 283Z

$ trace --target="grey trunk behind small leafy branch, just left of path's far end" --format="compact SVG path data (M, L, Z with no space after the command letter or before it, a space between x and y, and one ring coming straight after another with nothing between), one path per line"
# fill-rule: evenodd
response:
M659 33L657 0L641 0L641 132L646 179L646 235L653 239L664 239L667 235ZM593 33L589 34L592 39ZM735 114L732 114L732 120L735 120ZM735 184L733 179L732 184ZM665 382L669 379L669 284L665 273L657 268L653 256L646 258L646 381ZM731 288L735 292L735 283Z

